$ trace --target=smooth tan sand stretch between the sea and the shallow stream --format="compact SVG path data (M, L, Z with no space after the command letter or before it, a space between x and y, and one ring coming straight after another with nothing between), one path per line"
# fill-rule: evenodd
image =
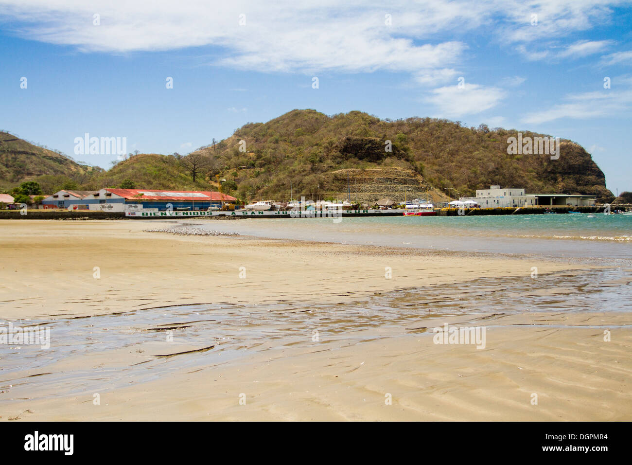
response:
M335 303L350 295L361 299L474 277L529 276L532 266L542 274L597 268L541 257L483 257L485 252L176 236L143 232L145 222L34 221L0 220L0 253L6 257L0 266L4 318L91 316L190 304ZM241 267L245 278L240 278ZM386 278L387 267L391 278Z

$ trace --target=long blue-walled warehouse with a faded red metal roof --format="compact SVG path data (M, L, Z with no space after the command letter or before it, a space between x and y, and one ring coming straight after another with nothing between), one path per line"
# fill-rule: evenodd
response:
M125 211L131 208L171 210L207 210L221 208L222 204L234 204L237 199L221 192L151 190L151 189L101 189L92 192L82 203L90 210Z

